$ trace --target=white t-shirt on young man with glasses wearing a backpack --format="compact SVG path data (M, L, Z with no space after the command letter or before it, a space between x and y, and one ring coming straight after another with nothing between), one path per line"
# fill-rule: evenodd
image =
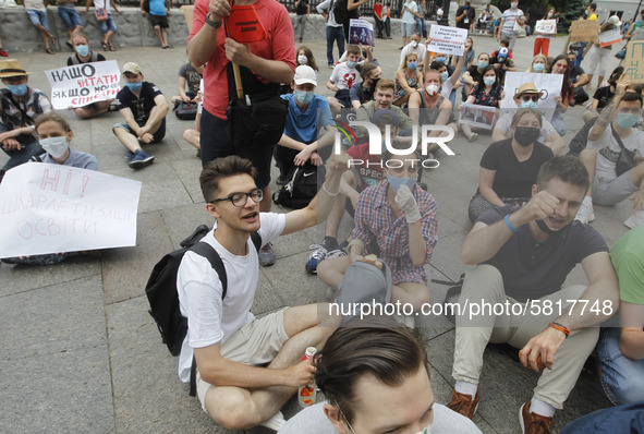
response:
M287 219L284 214L260 213L259 221L264 245L282 233ZM179 355L179 377L184 383L190 381L193 348L224 342L255 318L251 306L259 280L259 260L253 240L248 237L246 242L248 253L238 256L217 241L214 231L215 228L202 241L221 256L228 281L226 298L221 300L221 280L204 256L186 252L177 274L179 305L181 314L187 317L187 335Z

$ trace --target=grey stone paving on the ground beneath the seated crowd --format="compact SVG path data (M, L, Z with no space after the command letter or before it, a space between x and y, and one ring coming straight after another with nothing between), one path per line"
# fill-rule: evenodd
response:
M318 65L324 67L325 40L305 44L312 47ZM399 63L400 40L377 44L376 58L382 65L382 76L392 77ZM515 58L521 69L528 65L532 45L533 38L517 43ZM562 45L563 38L555 38L551 53L560 51ZM474 47L477 52L491 52L497 44L490 37L475 36ZM159 85L169 99L177 93L177 72L186 60L184 50L184 46L173 50L132 47L108 52L106 57L117 59L121 65L132 60L138 62L146 80ZM64 65L68 56L15 55L33 72L29 84L47 93L50 88L41 71ZM331 95L324 85L329 75L330 70L320 69L318 93L323 95ZM574 107L564 114L569 128L567 142L581 128L582 111L583 108ZM230 433L212 423L198 401L187 396L187 386L178 379L178 360L161 343L143 291L151 266L163 253L178 248L179 241L198 224L211 224L197 182L199 160L182 140L183 131L193 123L179 121L170 113L163 142L145 146L156 156L155 164L132 171L123 159L125 150L111 133L111 125L121 121L119 113L93 120L76 119L69 111L62 114L74 131L72 146L94 154L100 170L143 181L137 245L105 251L100 258L76 257L49 267L0 266L0 431ZM472 226L467 203L476 190L478 161L489 143L488 134L481 134L475 143L459 136L450 144L457 155L441 158L438 169L424 173L439 209L439 241L427 266L432 278L458 280L469 268L461 263L459 251ZM0 162L4 160L5 156L0 156ZM595 208L597 219L593 226L609 245L627 231L622 221L629 216L630 206L625 201L615 207ZM340 236L350 230L345 218ZM323 288L317 277L306 275L304 264L309 244L320 239L318 228L275 243L278 261L272 267L260 269L253 305L256 315L287 304L316 301L316 292ZM569 281L584 282L583 272L575 269ZM430 285L433 299L442 301L446 289ZM428 339L436 399L446 403L453 383L454 330L445 318L424 318L421 323ZM519 408L532 395L537 375L517 362L513 349L490 346L485 358L482 400L474 421L485 433L515 433L520 430ZM566 409L557 412L555 431L608 406L598 378L582 374ZM284 413L290 417L296 410L291 400Z

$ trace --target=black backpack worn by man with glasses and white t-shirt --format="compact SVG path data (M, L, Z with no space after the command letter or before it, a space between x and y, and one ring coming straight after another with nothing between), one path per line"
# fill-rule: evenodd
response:
M221 299L226 298L228 281L221 257L210 244L199 242L209 231L210 229L206 225L197 227L190 237L180 243L182 249L168 253L155 265L145 286L145 294L150 305L148 312L155 318L163 343L168 346L168 350L172 355L181 353L181 346L187 334L187 318L181 314L179 292L177 291L177 274L185 252L195 252L210 262L221 280ZM252 232L251 239L255 249L259 251L259 248L262 248L259 233ZM190 378L191 396L195 396L196 393L195 374L196 369L193 357L193 369Z

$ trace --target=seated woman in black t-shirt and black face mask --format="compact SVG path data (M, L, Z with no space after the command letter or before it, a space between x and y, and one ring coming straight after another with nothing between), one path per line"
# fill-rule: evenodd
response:
M530 201L539 168L555 157L552 149L537 142L542 122L537 109L519 109L512 118L512 138L493 143L485 150L481 158L478 190L467 209L472 222L493 206L521 205Z

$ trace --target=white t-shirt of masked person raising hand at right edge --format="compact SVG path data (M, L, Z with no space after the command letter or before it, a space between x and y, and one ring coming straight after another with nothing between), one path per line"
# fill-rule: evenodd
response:
M644 132L631 129L631 135L622 138L621 142L627 149L637 150L635 157L644 157ZM595 176L605 179L606 181L616 179L617 173L615 172L615 166L617 165L617 158L619 157L621 147L612 136L612 123L606 126L604 134L602 134L599 138L596 141L588 140L588 145L586 147L597 150L598 154Z

